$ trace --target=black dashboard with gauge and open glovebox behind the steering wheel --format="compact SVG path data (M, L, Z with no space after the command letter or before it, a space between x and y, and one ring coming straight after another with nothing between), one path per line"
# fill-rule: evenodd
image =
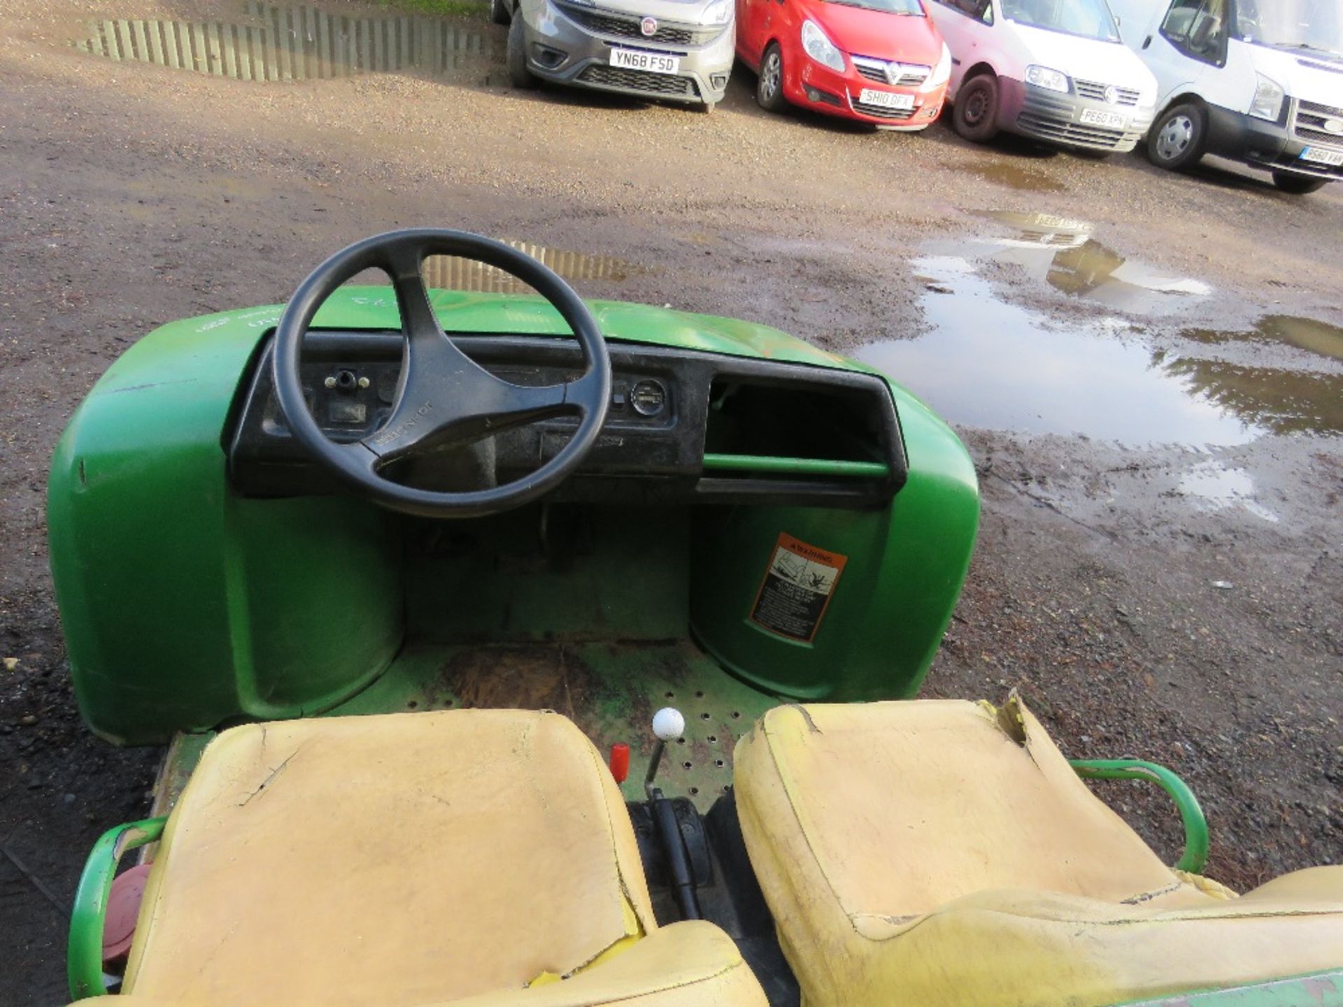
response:
M514 384L582 373L577 345L536 336L454 336L475 363ZM904 485L900 420L885 383L861 372L610 341L606 423L564 501L880 506ZM271 380L267 336L224 431L238 493L291 497L340 491L290 435ZM367 438L387 419L402 369L396 332L313 330L302 381L309 408L336 442ZM428 450L393 478L434 489L504 483L552 458L577 426L559 416Z

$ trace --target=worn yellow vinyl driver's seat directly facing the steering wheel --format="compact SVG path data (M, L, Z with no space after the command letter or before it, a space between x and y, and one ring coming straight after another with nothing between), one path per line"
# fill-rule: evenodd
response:
M547 988L645 941L638 960L661 968L677 928L655 929L624 802L567 718L258 724L223 732L173 808L124 990L183 1007L410 1007L579 973L528 992L551 1003ZM685 947L727 969L721 943L701 945ZM672 981L658 975L634 992Z

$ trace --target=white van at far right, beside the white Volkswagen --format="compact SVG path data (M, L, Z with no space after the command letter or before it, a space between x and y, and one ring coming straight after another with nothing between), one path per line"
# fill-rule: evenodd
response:
M1284 192L1343 177L1343 0L1111 0L1159 83L1147 153L1273 173Z

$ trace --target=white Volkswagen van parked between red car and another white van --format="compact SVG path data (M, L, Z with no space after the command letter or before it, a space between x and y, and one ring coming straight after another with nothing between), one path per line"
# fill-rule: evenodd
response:
M1156 79L1120 39L1105 0L933 0L951 50L952 124L1069 148L1132 150L1152 122Z

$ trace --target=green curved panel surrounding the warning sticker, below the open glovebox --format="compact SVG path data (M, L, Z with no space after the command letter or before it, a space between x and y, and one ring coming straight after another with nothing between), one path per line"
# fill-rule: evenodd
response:
M909 478L882 510L706 508L694 514L690 626L735 674L796 700L907 698L919 690L960 595L979 498L964 448L892 385ZM959 442L958 442L959 443ZM748 619L779 533L846 563L810 643Z

